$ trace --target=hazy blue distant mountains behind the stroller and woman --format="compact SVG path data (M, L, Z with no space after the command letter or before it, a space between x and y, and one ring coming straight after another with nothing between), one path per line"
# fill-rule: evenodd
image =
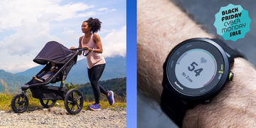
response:
M110 80L112 78L124 78L126 77L126 58L115 57L115 58L105 58L106 66L100 80ZM4 86L9 88L25 84L31 78L36 75L44 65L38 65L34 68L30 68L21 73L8 73L4 70L0 70L0 90L4 89ZM78 60L73 68L68 73L68 77L65 80L65 83L73 82L73 84L84 84L89 81L87 76L87 60L82 59Z

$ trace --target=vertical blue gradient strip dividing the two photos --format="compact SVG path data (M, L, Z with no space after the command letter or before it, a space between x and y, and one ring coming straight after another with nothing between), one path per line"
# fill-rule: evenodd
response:
M127 0L127 127L137 127L137 1Z

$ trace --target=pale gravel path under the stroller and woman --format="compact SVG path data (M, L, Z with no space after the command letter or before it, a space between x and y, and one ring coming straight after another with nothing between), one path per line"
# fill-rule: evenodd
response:
M127 110L119 107L116 109L82 110L75 115L59 107L21 114L0 111L0 127L126 127Z

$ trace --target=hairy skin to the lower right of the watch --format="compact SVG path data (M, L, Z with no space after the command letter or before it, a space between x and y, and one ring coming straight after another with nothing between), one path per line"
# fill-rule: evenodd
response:
M253 122L246 123L247 126L242 124L256 117L255 69L247 60L235 58L231 71L233 81L228 82L210 104L199 104L186 111L183 127L252 127Z

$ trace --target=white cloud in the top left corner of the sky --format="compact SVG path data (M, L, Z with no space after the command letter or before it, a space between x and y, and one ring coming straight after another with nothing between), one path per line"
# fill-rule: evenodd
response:
M78 17L78 11L94 8L83 3L69 3L60 5L60 1L53 0L3 0L0 1L0 29L21 26L26 19L31 23L38 21L42 16L53 16L49 20L63 21Z

